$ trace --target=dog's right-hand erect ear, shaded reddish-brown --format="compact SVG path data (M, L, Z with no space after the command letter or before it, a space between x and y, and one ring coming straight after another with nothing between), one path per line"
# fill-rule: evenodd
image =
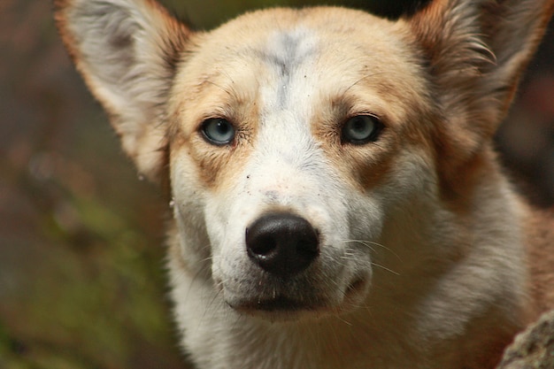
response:
M494 135L553 11L552 0L434 0L407 19L447 120L445 154L468 159Z

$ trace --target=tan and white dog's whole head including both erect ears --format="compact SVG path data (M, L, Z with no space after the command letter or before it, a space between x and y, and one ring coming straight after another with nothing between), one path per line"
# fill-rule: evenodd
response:
M379 270L462 252L438 218L486 171L552 11L273 9L194 33L150 0L57 5L124 149L170 188L184 268L273 317L350 310Z

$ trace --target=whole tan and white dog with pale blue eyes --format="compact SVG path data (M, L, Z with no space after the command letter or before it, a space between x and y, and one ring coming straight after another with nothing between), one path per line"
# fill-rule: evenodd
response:
M171 205L198 368L488 369L554 307L554 220L492 142L554 1L275 8L210 32L155 0L55 7Z

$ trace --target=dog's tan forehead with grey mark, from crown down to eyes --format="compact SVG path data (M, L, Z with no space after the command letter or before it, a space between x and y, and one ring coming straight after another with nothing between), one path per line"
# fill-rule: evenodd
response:
M206 118L202 115L227 116L243 104L257 104L262 114L295 102L307 111L322 96L332 101L362 85L373 88L367 100L387 100L392 92L396 96L388 100L401 102L408 91L420 89L403 29L365 12L332 7L252 12L195 43L174 86L177 103L187 105L181 110L198 111L196 121Z

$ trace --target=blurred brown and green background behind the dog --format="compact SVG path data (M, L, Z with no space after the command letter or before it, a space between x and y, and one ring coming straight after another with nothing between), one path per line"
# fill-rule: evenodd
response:
M265 6L320 4L162 3L198 28ZM413 6L333 3L389 17ZM553 27L497 142L519 187L551 206ZM168 204L141 180L74 71L50 1L0 0L0 369L187 367L166 297Z

